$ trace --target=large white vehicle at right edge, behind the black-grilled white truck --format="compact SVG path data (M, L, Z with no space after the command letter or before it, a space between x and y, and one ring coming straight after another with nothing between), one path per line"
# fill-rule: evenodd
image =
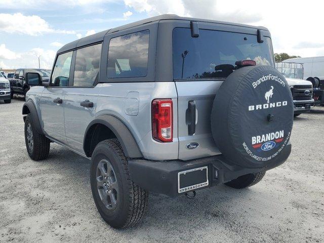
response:
M313 98L315 104L324 105L324 56L291 58L284 62L303 64L303 79L313 84Z

